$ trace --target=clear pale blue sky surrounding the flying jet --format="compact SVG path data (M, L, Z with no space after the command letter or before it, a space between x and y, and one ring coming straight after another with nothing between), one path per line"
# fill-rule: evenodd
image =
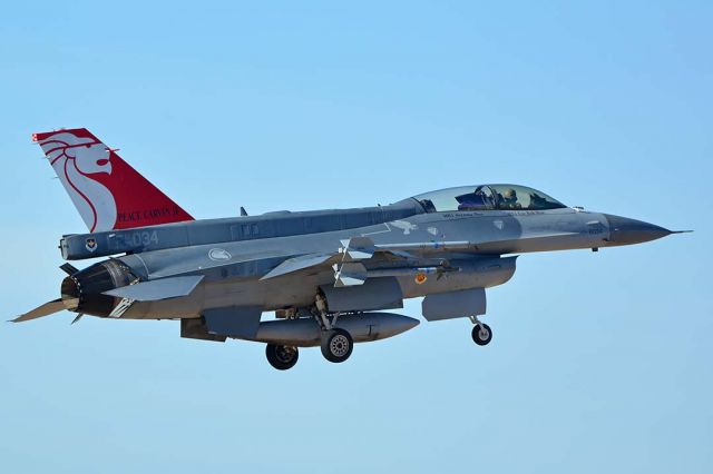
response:
M711 472L710 2L11 2L7 318L84 231L33 131L88 127L196 217L521 182L695 229L527 255L494 328L304 350L64 313L0 327L3 472ZM419 302L404 314L419 315Z

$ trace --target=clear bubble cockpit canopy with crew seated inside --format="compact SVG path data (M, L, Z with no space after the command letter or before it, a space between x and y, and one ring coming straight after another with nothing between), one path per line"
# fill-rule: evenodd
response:
M427 213L457 210L545 210L565 206L545 192L517 185L480 185L448 188L413 197Z

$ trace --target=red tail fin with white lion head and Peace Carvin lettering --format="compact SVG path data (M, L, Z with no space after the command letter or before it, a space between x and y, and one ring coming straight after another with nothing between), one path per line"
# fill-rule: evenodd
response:
M32 135L89 231L193 220L193 217L86 128Z

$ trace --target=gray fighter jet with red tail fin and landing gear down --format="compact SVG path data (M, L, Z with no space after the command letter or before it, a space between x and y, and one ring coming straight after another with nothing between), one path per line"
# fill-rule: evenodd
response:
M423 297L428 322L467 317L485 346L486 289L515 273L517 254L639 244L663 227L570 208L519 185L441 189L389 206L277 211L195 220L87 129L35 134L89 233L61 237L60 297L13 322L64 309L121 319L180 322L180 336L266 345L270 364L299 347L333 363L354 343L409 330L384 310ZM275 318L262 320L263 313Z

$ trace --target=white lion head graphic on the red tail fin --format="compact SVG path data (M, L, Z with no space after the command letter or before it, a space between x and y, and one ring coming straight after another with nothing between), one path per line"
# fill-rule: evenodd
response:
M111 152L95 138L58 131L40 141L57 176L71 196L89 231L110 230L116 223L116 201L91 175L111 175Z

